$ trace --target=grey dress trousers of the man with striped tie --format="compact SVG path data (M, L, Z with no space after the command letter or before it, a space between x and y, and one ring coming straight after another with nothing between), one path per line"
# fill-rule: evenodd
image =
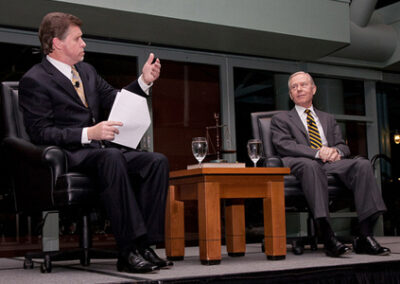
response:
M343 159L332 163L309 158L283 158L285 166L300 181L315 218L329 217L327 174L339 178L353 191L359 221L386 211L371 163L367 159Z

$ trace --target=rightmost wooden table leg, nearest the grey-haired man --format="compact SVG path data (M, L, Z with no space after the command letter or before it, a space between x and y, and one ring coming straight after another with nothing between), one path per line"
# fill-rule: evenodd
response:
M285 196L282 181L268 182L268 196L264 198L264 241L268 259L286 257Z

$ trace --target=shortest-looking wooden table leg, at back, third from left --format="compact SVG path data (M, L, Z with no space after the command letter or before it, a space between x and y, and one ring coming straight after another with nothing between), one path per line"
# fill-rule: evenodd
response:
M244 256L246 252L244 199L225 201L225 235L228 255Z

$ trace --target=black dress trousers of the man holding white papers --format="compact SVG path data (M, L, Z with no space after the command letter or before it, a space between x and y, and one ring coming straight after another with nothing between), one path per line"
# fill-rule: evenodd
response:
M144 234L149 244L164 240L169 166L163 154L93 148L71 170L97 181L120 249Z

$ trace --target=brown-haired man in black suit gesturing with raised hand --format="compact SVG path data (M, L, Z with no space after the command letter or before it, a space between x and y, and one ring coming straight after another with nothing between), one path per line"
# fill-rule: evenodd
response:
M69 169L98 183L120 251L119 271L142 273L172 265L150 247L164 239L168 160L108 142L122 123L100 121L100 115L111 108L119 90L82 62L86 44L81 25L70 14L43 18L39 38L46 57L19 84L27 132L36 144L62 147ZM153 59L150 54L139 79L124 89L148 94L161 69L159 59L152 64Z

